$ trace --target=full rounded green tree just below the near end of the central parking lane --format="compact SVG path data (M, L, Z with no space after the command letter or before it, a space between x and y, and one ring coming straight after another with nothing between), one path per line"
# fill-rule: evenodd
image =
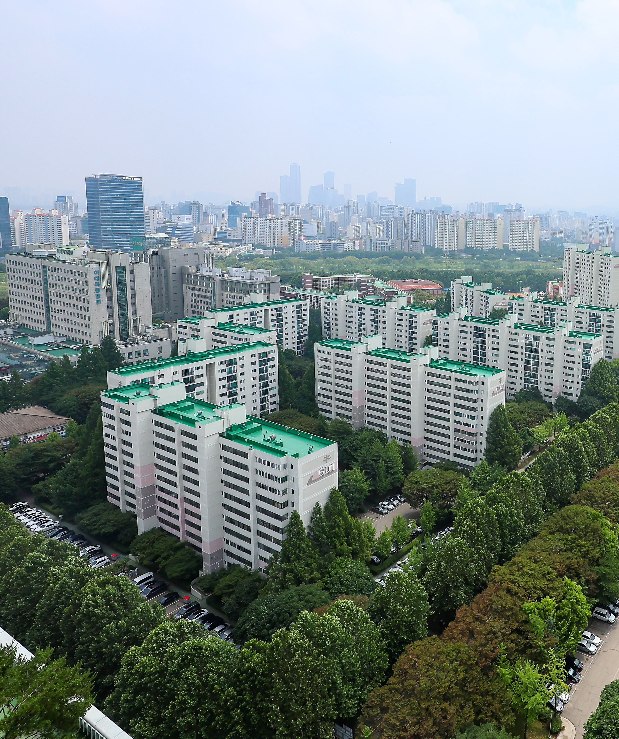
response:
M385 586L374 592L368 612L379 624L392 663L407 644L427 636L430 605L423 585L410 568L386 576Z

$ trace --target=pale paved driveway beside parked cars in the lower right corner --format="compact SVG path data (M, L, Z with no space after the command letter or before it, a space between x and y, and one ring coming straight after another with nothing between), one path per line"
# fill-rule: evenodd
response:
M583 727L589 716L600 702L603 688L619 678L619 628L617 624L603 624L592 619L589 630L599 636L602 643L598 653L586 657L578 652L576 656L584 662L581 681L573 685L569 693L569 703L565 706L563 716L576 728L576 739L582 739Z

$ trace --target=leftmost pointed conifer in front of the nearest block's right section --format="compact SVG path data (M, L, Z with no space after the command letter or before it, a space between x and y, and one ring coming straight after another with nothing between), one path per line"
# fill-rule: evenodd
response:
M271 588L277 590L307 585L320 579L318 551L308 539L298 511L291 513L282 549L271 557L268 574Z

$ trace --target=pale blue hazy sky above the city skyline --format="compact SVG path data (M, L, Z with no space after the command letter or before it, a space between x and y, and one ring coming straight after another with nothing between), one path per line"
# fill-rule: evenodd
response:
M618 0L0 0L0 189L619 205ZM2 192L0 191L0 194ZM82 206L84 207L84 206Z

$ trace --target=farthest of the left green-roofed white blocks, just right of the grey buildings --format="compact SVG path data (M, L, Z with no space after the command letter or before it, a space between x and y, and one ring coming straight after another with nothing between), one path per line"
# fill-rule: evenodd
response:
M309 308L307 300L271 300L265 303L235 305L227 308L200 310L177 321L180 339L188 336L206 338L213 321L220 323L243 324L274 331L277 344L283 350L291 349L302 356L308 338Z

